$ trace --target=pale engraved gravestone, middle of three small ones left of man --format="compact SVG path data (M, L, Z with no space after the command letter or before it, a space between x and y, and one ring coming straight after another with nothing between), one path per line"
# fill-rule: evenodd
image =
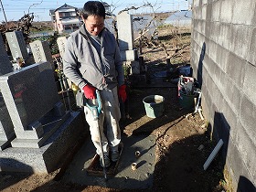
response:
M35 40L29 45L36 63L48 61L54 69L48 41Z

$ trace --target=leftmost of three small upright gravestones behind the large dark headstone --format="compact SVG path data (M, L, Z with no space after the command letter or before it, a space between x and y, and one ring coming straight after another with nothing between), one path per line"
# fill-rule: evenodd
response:
M22 31L6 32L5 37L14 60L17 58L28 59L26 42Z

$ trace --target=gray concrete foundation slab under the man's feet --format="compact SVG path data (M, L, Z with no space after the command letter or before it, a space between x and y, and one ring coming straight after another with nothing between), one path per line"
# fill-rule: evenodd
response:
M132 135L122 138L123 154L117 167L117 174L109 176L105 181L104 176L91 176L86 169L91 165L95 148L89 139L80 148L62 179L86 186L111 187L116 189L141 189L153 187L155 170L155 136ZM135 156L139 151L141 155ZM137 169L132 170L132 164L137 164Z

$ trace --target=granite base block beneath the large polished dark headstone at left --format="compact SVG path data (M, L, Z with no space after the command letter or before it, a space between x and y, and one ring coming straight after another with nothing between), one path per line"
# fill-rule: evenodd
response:
M88 131L83 113L70 112L69 119L40 148L5 148L0 153L0 171L50 173L63 165Z

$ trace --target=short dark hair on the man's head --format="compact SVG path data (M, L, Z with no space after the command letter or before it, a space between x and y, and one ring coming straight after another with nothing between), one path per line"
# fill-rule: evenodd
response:
M102 16L105 18L105 7L100 1L88 1L83 5L82 16L87 19L88 16Z

